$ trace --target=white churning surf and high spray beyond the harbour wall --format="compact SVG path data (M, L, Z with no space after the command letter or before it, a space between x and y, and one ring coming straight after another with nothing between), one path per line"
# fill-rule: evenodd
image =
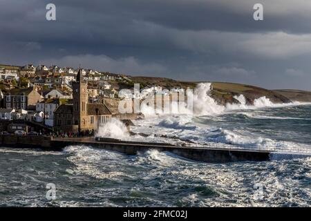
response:
M296 141L274 140L272 137L266 137L267 133L250 133L249 128L234 128L237 120L235 116L244 115L249 119L271 119L271 120L308 120L308 117L296 116L280 116L270 110L279 110L280 108L294 108L308 106L310 104L302 104L293 102L289 104L274 104L267 97L258 97L254 99L254 105L247 105L244 95L234 96L238 104L218 105L212 97L211 84L198 84L194 89L194 115L189 115L187 111L182 110L181 113L172 115L150 115L147 114L146 119L137 120L135 126L131 127L131 131L135 133L144 133L149 136L140 137L135 135L131 140L149 140L152 142L168 142L176 144L176 142L195 143L200 145L216 144L232 144L239 147L250 148L310 148L310 145L299 144ZM258 112L259 111L259 112ZM283 110L288 111L286 109ZM232 120L236 120L236 122ZM229 122L232 121L230 124ZM249 122L245 122L249 124ZM261 122L263 124L263 122ZM267 123L265 123L267 124ZM251 126L251 125L249 125ZM265 125L269 127L269 124ZM276 126L278 124L276 123ZM241 124L240 127L243 127ZM248 127L248 125L247 125ZM254 128L250 128L255 131ZM265 129L262 129L265 132ZM275 128L278 130L278 128ZM191 144L189 144L191 145ZM214 145L215 146L215 145Z

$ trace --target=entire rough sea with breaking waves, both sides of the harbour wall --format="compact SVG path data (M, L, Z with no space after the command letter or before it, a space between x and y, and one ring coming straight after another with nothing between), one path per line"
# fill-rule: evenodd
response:
M311 206L311 104L219 106L202 84L194 114L144 113L97 136L189 146L271 149L265 162L212 164L170 152L125 155L91 146L0 148L0 206ZM199 102L199 103L196 103ZM50 196L53 187L54 198Z

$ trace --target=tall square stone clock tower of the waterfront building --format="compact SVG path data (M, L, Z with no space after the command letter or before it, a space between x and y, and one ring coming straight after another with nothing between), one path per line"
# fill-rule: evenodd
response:
M88 84L84 80L82 70L77 73L73 82L73 124L78 125L79 132L87 127Z

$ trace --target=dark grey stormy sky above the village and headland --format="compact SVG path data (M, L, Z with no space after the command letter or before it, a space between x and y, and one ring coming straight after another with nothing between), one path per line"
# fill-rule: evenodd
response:
M55 3L56 21L46 20ZM262 3L264 20L254 21ZM0 64L311 90L311 1L0 0Z

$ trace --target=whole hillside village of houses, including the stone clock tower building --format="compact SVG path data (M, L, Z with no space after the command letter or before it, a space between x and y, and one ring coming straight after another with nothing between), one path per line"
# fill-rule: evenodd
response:
M134 93L131 76L59 66L0 65L0 131L2 134L63 136L93 135L116 117L131 124L142 114L122 114L122 99L146 99L163 93L162 86L144 81ZM122 89L125 93L119 93ZM164 88L163 88L164 89ZM165 88L178 93L180 87Z

